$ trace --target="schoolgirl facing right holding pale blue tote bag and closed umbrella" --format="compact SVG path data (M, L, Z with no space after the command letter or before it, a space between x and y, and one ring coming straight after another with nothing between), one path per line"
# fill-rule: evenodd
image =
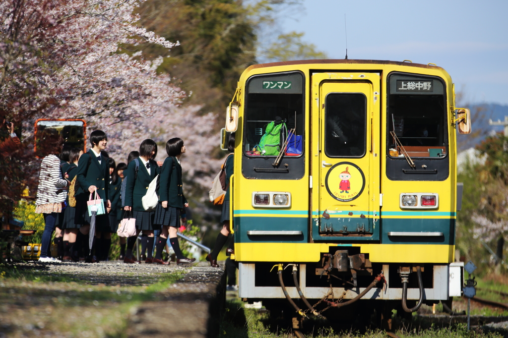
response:
M76 246L80 252L83 245L87 244L87 235L94 236L90 231L90 216L88 215L88 207L86 201L90 194L92 198L97 193L105 203L105 208L111 208L109 200L109 170L108 157L105 157L102 151L106 149L108 138L102 130L94 130L90 134L90 144L92 148L86 154L80 157L78 162L78 173L76 175L78 187L76 190L76 217L74 222L80 224ZM104 229L109 226L107 214L98 215L96 217L96 229ZM92 242L92 249L95 239ZM96 256L90 254L86 257L87 263L98 263Z

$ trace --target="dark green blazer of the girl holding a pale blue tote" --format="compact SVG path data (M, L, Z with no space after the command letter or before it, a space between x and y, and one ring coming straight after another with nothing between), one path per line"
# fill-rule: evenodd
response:
M108 158L102 154L101 157L102 160L99 163L96 155L90 149L79 158L78 172L76 174L79 188L76 190L76 199L88 200L90 196L88 188L94 185L97 187L99 196L104 199L104 207L106 207L106 200L109 199L109 168ZM90 164L88 165L88 163Z

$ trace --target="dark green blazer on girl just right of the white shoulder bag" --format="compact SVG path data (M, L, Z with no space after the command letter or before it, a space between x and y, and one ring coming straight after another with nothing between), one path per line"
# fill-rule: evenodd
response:
M182 167L176 157L166 157L159 182L159 201L168 201L168 207L183 208L187 199L183 195Z

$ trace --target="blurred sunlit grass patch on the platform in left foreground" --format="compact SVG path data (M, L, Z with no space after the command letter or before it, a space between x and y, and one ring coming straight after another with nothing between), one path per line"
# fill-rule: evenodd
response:
M67 275L48 276L36 268L0 266L0 332L8 337L126 337L140 303L157 301L182 271L156 276L149 285L91 285ZM141 281L143 282L143 281ZM1 335L4 336L4 335Z

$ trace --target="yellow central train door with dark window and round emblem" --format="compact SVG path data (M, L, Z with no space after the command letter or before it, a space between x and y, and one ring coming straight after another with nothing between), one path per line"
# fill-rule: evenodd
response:
M319 140L319 153L312 156L319 158L313 166L319 184L313 203L319 205L319 215L312 238L378 240L379 75L337 74L333 79L326 74L321 80L323 76L312 78L313 87L319 87L312 93L319 102L312 114L314 132L319 125L318 139L313 138Z

